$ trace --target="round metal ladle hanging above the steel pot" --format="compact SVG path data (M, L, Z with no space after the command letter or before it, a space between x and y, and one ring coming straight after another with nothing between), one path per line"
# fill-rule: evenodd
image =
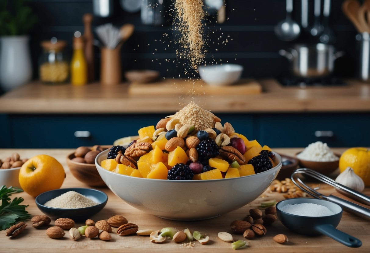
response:
M286 0L286 19L275 26L275 35L282 41L293 41L299 37L300 27L292 20L293 0Z

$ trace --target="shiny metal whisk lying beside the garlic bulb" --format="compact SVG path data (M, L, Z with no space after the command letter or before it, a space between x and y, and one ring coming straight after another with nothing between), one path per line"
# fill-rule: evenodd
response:
M342 184L337 183L333 179L330 179L329 177L324 176L323 174L311 169L306 168L297 169L292 173L292 176L290 177L293 183L296 184L296 186L298 186L301 190L305 191L306 193L310 194L312 197L336 203L343 207L343 209L346 210L347 212L360 216L361 218L370 220L370 209L354 204L353 202L343 200L342 198L339 198L332 194L330 194L329 196L323 195L316 191L319 190L318 188L313 189L307 186L300 178L296 177L297 174L303 174L305 176L317 179L323 183L329 184L330 186L333 186L338 191L340 191L340 193L342 193L343 195L346 195L347 197L350 197L351 199L366 205L370 205L369 196L359 193L358 191L355 191L349 187L343 186Z

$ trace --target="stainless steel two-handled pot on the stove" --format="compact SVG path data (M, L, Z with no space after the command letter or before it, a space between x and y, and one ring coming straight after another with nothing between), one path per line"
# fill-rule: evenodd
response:
M315 44L295 45L294 48L280 50L279 54L292 62L292 72L300 77L323 77L334 70L334 60L344 55L343 51L335 52L334 46Z

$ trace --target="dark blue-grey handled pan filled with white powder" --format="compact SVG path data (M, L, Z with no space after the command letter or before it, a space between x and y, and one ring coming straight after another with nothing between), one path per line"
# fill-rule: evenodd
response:
M343 209L339 205L313 198L290 198L276 204L281 223L303 235L326 235L348 247L360 247L362 242L338 229Z

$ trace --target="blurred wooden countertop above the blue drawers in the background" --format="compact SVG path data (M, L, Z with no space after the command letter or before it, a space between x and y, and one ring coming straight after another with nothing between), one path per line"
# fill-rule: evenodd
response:
M174 80L175 82L176 80ZM348 80L343 87L282 87L276 80L258 80L262 94L213 96L129 95L128 84L48 86L33 82L0 97L5 114L173 113L190 101L212 112L369 112L370 84Z

